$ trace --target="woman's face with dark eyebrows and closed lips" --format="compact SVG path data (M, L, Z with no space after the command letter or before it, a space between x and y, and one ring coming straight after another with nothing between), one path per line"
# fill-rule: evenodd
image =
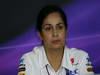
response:
M65 25L59 13L49 14L43 21L40 38L47 48L62 48L65 45Z

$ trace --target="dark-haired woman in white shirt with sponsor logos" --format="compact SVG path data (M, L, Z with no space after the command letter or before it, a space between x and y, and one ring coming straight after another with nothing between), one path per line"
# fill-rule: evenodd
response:
M43 45L22 56L18 75L94 75L88 54L65 46L67 22L59 7L44 7L36 28Z

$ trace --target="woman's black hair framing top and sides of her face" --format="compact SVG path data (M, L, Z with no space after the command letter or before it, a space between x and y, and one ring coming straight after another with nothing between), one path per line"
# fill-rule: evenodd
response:
M36 29L39 32L42 31L42 23L43 23L44 19L49 14L54 13L54 12L58 12L60 14L62 20L64 21L65 27L67 29L67 20L66 20L66 16L65 16L65 13L63 12L63 10L56 5L47 5L40 10L38 17L37 17Z

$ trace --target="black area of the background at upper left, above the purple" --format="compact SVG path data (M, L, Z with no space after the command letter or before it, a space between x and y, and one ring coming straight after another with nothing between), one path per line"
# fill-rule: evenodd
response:
M72 2L72 0L3 0L0 10L0 45L33 27L41 7L48 4L67 5Z

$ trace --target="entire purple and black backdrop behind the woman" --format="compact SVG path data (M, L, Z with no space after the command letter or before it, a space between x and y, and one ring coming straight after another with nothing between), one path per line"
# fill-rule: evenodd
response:
M89 53L100 73L100 0L4 0L0 9L0 75L17 75L20 57L40 45L35 30L41 7L59 5L67 15L66 45Z

